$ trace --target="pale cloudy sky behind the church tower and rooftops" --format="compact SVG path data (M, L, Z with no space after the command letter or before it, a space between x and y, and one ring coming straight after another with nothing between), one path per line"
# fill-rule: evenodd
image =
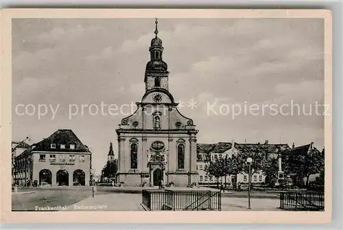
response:
M132 110L110 115L101 105L141 101L154 27L154 19L14 19L13 140L29 136L34 143L72 129L93 152L100 174L110 141L117 157L115 130ZM322 19L158 19L158 31L169 91L196 124L198 143L324 147L324 117L314 112L324 103ZM285 114L292 103L300 110ZM233 115L234 106L252 104L258 112ZM288 107L262 114L261 106L271 104ZM38 117L43 105L46 114Z

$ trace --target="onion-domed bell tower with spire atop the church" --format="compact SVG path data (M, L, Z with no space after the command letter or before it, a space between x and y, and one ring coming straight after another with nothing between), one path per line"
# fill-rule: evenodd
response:
M145 91L151 89L166 89L168 90L168 76L167 63L163 61L163 46L162 40L158 38L158 21L155 21L155 37L152 38L150 44L150 61L147 62L145 69Z

